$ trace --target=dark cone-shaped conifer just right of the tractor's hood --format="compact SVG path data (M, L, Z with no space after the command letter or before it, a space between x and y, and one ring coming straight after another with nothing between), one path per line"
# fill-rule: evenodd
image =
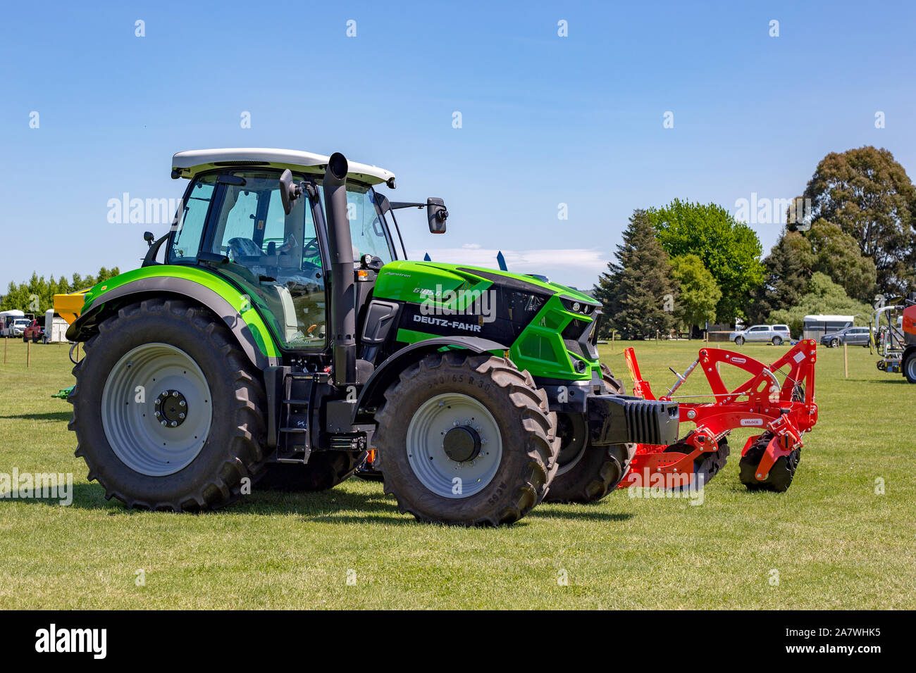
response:
M634 211L617 245L616 263L607 265L594 287L594 297L604 305L602 335L611 329L625 339L667 333L674 326L677 288L671 265L649 223L646 211Z

